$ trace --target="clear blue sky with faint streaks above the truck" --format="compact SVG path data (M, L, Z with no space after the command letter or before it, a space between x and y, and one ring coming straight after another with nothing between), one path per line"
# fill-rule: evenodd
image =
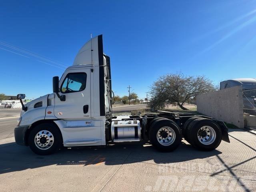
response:
M0 93L36 98L103 34L115 94L140 98L161 75L204 75L214 84L255 78L255 0L2 1ZM50 58L42 60L21 52Z

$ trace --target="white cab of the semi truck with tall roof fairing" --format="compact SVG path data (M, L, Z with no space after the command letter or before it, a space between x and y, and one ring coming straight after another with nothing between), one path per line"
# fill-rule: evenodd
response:
M58 86L54 93L25 104L15 129L16 142L29 145L35 126L52 124L58 126L64 146L106 145L105 122L112 116L112 90L110 58L103 53L102 35L82 46L60 80L53 78L54 84ZM46 133L39 135L42 150L51 144L50 140L40 142Z

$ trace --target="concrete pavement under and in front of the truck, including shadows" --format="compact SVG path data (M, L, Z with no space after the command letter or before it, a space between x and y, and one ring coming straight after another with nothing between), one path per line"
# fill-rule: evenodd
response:
M8 134L17 120L8 113L0 118L1 192L256 191L256 135L244 130L230 129L230 143L211 152L182 140L170 153L133 142L38 156Z

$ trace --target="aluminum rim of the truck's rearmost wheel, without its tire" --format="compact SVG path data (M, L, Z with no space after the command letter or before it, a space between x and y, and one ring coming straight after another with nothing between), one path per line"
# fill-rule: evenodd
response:
M197 138L200 143L210 145L216 140L216 132L210 126L202 126L197 132Z

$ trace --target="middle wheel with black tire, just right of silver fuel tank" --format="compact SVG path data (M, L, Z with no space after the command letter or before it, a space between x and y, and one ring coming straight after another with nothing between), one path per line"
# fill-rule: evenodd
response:
M158 119L150 127L149 138L157 150L171 152L181 143L181 130L172 120Z

